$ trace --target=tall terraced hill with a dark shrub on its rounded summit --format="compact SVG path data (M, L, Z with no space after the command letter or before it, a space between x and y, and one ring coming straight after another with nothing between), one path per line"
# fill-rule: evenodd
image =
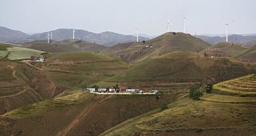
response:
M152 48L146 48L146 46L152 46ZM103 50L102 54L138 65L147 60L155 59L174 51L199 52L210 46L210 43L191 36L190 34L167 32L145 43L130 42L117 44L109 49Z

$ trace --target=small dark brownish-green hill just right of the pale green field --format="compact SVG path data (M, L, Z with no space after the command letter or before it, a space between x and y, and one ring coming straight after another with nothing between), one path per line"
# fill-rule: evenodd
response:
M70 51L67 51L66 49L62 49L51 44L39 43L39 42L31 43L30 45L25 46L25 48L36 49L39 51L44 51L44 52L52 53L56 55L70 52Z

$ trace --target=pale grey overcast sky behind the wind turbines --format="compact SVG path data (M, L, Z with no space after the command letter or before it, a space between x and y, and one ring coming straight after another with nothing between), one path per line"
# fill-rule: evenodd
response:
M190 34L256 33L256 0L0 0L0 26L22 32L46 32L59 28L100 33L167 32ZM222 18L224 17L224 20ZM140 23L141 22L141 23ZM140 25L139 25L140 24Z

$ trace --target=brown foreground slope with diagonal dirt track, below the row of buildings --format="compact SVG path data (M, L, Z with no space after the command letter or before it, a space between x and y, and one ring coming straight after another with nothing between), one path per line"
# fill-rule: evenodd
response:
M160 98L156 99L156 95L96 95L76 91L0 116L0 132L5 135L99 135L127 119L157 109L163 102L169 104L180 95L157 96Z

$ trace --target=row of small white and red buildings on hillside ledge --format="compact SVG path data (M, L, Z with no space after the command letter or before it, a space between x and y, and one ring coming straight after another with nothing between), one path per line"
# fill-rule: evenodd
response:
M90 92L96 92L95 88L87 88L87 91ZM139 89L126 89L126 88L119 88L119 89L114 89L114 88L109 88L109 90L107 90L107 88L98 88L98 93L116 93L116 92L139 92L139 93L158 93L161 91L160 88L158 88L158 90L148 90L148 89L143 89L143 90L139 90Z

